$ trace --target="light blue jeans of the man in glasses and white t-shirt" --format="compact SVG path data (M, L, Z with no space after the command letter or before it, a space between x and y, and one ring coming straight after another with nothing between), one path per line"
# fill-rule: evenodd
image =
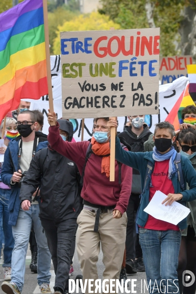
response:
M12 226L15 245L12 252L11 280L12 282L16 283L20 292L22 292L24 285L25 258L32 224L38 247L38 285L43 283L49 284L49 279L51 277L49 272L51 254L49 252L46 234L39 219L39 212L39 204L32 204L27 211L24 211L22 208L20 208L17 223L15 226Z

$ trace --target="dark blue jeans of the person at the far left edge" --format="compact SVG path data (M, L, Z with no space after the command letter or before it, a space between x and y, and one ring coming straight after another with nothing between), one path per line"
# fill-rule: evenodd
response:
M12 226L8 224L9 221L9 211L7 210L9 204L11 189L1 189L0 188L0 220L3 221L3 232L0 234L0 244L3 243L3 233L4 233L4 267L11 268L12 250L14 248L14 238L12 235ZM0 248L1 248L0 246Z

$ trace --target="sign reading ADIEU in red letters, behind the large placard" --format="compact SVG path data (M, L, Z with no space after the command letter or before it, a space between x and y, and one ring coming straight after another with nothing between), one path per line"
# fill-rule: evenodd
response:
M172 83L180 76L188 76L187 65L192 64L191 55L170 56L160 58L160 80L161 84Z

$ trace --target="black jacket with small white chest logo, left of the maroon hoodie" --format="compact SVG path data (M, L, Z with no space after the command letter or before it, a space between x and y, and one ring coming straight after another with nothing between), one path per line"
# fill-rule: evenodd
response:
M56 223L77 218L80 203L76 164L49 148L46 160L43 162L40 159L42 150L38 151L31 161L21 185L20 200L31 201L31 196L41 183L39 215L41 218Z

